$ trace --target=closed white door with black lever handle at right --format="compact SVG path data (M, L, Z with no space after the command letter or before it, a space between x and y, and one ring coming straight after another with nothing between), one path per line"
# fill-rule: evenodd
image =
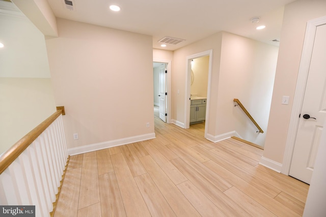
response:
M290 176L310 183L326 116L326 24L317 26Z

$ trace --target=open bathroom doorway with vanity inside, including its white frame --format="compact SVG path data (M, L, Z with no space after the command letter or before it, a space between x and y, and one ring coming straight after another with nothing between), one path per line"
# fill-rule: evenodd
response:
M207 126L209 123L209 102L210 102L210 80L211 80L211 64L212 64L212 50L207 50L191 56L187 56L187 76L186 76L186 94L185 94L185 128L190 128L191 123L201 123L204 127L204 137L207 138ZM205 63L206 61L206 63ZM196 70L196 62L202 62L206 73L197 76L194 72ZM194 65L194 67L192 66ZM194 69L194 70L192 70ZM199 70L199 68L197 68ZM205 70L204 70L205 71ZM198 87L195 87L195 79L198 82ZM194 85L194 88L192 86ZM203 121L205 120L205 121ZM199 126L200 127L200 126ZM200 129L202 128L200 127Z

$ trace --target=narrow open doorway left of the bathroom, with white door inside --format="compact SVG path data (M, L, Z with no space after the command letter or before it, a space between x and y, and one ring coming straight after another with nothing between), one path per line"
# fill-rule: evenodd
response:
M171 61L154 59L153 88L154 113L161 121L170 123ZM155 113L155 114L156 114Z

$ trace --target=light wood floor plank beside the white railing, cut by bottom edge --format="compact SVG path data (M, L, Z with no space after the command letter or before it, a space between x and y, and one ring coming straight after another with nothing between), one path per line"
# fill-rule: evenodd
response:
M77 216L81 176L81 167L66 171L56 211L54 213L55 217Z

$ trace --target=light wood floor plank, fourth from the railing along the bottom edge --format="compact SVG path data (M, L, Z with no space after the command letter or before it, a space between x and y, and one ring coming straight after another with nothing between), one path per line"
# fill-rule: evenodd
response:
M111 156L127 216L151 216L122 153Z

